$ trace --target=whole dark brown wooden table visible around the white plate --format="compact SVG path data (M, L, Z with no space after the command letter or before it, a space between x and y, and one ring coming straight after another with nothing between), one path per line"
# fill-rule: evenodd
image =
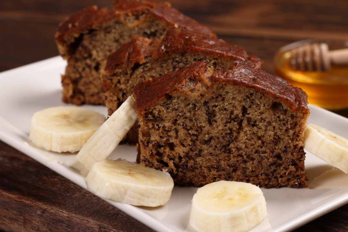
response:
M72 12L112 0L0 1L0 71L58 55L54 33ZM293 41L348 39L346 0L172 0L220 38L246 48L273 73L276 50ZM348 117L348 111L337 112ZM0 230L152 231L0 141ZM348 205L297 231L348 231Z

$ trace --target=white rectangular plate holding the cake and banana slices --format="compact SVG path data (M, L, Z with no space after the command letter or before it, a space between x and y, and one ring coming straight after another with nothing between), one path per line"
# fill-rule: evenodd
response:
M36 111L65 105L61 101L60 83L65 65L60 57L53 57L0 73L0 139L86 189L80 174L85 174L85 170L80 172L82 166L75 154L44 151L28 141L30 120ZM107 113L104 106L82 107ZM348 119L313 105L309 107L309 122L348 138ZM111 159L115 158L135 161L135 146L119 146L111 155ZM268 215L253 231L289 231L348 202L348 175L340 171L335 171L334 176L321 175L331 167L309 152L305 164L309 188L262 189ZM106 201L156 231L188 231L191 199L196 190L174 187L169 202L157 208Z

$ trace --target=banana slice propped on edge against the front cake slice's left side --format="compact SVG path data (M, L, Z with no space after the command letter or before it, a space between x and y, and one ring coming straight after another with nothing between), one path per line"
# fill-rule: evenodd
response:
M95 162L106 160L134 125L137 118L134 100L130 96L88 139L77 154L77 159L88 169L92 168Z

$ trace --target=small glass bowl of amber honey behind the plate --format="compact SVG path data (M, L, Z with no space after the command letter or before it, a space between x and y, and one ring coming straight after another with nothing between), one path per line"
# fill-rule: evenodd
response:
M317 41L303 40L280 48L275 55L274 65L276 75L293 86L300 87L308 94L308 102L327 110L348 108L348 65L332 65L329 71L299 71L291 64L292 50ZM347 42L348 43L348 42ZM347 48L335 47L330 43L330 49ZM331 48L332 47L332 48Z

